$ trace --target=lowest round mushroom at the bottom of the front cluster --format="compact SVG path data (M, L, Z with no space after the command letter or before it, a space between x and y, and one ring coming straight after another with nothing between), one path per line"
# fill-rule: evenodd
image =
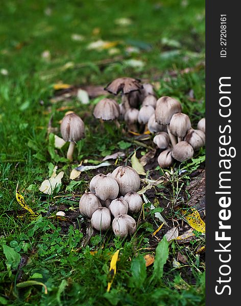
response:
M124 238L136 230L136 221L128 215L118 215L112 222L112 229L117 237Z

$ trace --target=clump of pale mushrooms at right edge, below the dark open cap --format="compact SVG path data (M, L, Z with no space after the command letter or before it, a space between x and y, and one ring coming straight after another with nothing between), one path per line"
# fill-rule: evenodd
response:
M184 162L192 158L194 151L205 145L205 118L199 121L195 130L188 115L181 111L180 102L172 97L163 96L157 100L153 121L165 126L167 132L159 132L153 139L162 149L157 159L161 168L171 166L174 159Z

